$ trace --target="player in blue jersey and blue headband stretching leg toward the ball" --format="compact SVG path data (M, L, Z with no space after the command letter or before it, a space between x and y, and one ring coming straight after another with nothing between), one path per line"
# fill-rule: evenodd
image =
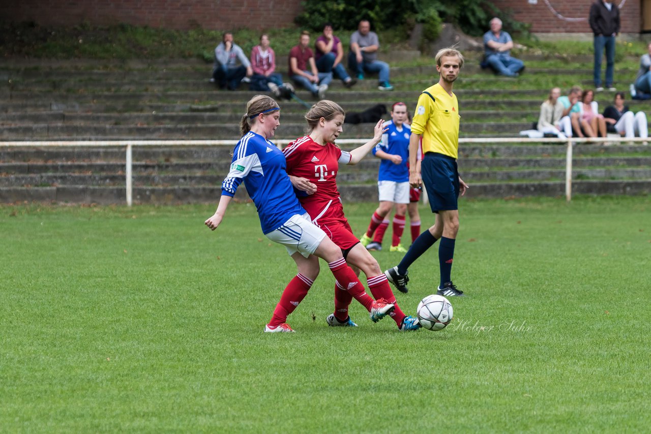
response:
M287 316L314 283L319 273L318 258L327 261L337 282L368 310L370 318L376 322L392 312L395 306L382 300L374 301L366 293L355 272L346 265L341 249L312 223L298 202L294 185L312 193L316 186L303 178L295 178L294 185L290 182L283 152L268 140L280 125L279 119L280 107L273 98L256 95L247 103L247 113L240 122L242 139L235 145L230 172L221 185L217 211L205 224L211 230L221 224L230 200L243 181L258 210L262 232L271 241L284 245L296 262L298 274L284 289L265 332L293 332L286 323Z

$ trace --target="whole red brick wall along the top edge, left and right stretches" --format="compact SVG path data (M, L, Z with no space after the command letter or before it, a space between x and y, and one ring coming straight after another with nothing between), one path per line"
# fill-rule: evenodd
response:
M534 33L589 33L588 11L593 0L494 0L513 10L516 20L531 23ZM301 0L3 0L0 21L34 21L40 25L129 23L171 29L269 29L291 25ZM615 0L622 33L639 33L641 0ZM556 14L553 12L555 10ZM568 21L580 19L581 21ZM486 23L488 29L488 23Z

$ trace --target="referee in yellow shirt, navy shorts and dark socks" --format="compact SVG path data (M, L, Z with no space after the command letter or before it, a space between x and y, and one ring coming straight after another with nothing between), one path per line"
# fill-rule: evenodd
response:
M464 66L464 56L456 49L444 48L436 54L436 70L440 75L436 85L426 88L418 98L416 113L411 122L409 140L409 184L424 185L432 212L436 213L434 226L422 232L413 242L400 264L385 271L390 282L400 292L407 292L409 265L427 249L439 243L441 283L437 294L445 297L464 295L452 284L454 240L459 230L459 194L465 194L468 185L461 179L456 166L459 148L459 104L452 92L454 81ZM417 151L422 137L422 162L417 165ZM421 177L422 172L422 177Z

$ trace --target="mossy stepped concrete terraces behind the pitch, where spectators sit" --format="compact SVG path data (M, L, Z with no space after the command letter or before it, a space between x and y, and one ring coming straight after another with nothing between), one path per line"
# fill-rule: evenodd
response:
M380 92L373 78L352 89L333 81L327 98L348 112L370 105L408 103L434 82L432 66L392 68L393 92ZM125 152L117 147L10 147L2 141L238 139L245 102L256 92L223 92L208 82L210 65L200 61L102 62L8 61L0 67L0 202L124 203ZM527 68L518 81L464 67L457 96L461 137L517 137L531 128L547 89L545 75L579 81L590 70ZM625 74L625 72L621 72ZM634 75L635 72L630 72ZM495 89L495 83L507 89ZM511 86L510 83L513 83ZM299 90L308 102L313 98ZM604 107L612 94L600 95ZM643 109L643 102L629 102ZM281 102L276 139L303 135L305 107ZM388 118L388 115L387 115ZM341 139L371 137L372 125L344 126ZM347 146L344 146L346 148ZM135 202L215 202L227 173L232 146L135 147ZM460 170L473 197L562 195L565 148L541 144L464 144ZM648 194L651 149L644 145L578 145L574 192ZM344 200L376 200L378 161L367 157L340 170ZM245 193L238 198L246 200Z

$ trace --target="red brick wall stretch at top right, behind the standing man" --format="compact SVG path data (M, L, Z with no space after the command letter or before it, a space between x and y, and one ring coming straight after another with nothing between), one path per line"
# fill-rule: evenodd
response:
M639 33L642 25L641 0L614 2L622 6L622 33ZM533 33L592 33L588 15L594 0L537 0L535 5L531 5L529 0L493 0L493 3L501 10L512 10L516 20L531 23ZM581 21L574 21L576 19Z

